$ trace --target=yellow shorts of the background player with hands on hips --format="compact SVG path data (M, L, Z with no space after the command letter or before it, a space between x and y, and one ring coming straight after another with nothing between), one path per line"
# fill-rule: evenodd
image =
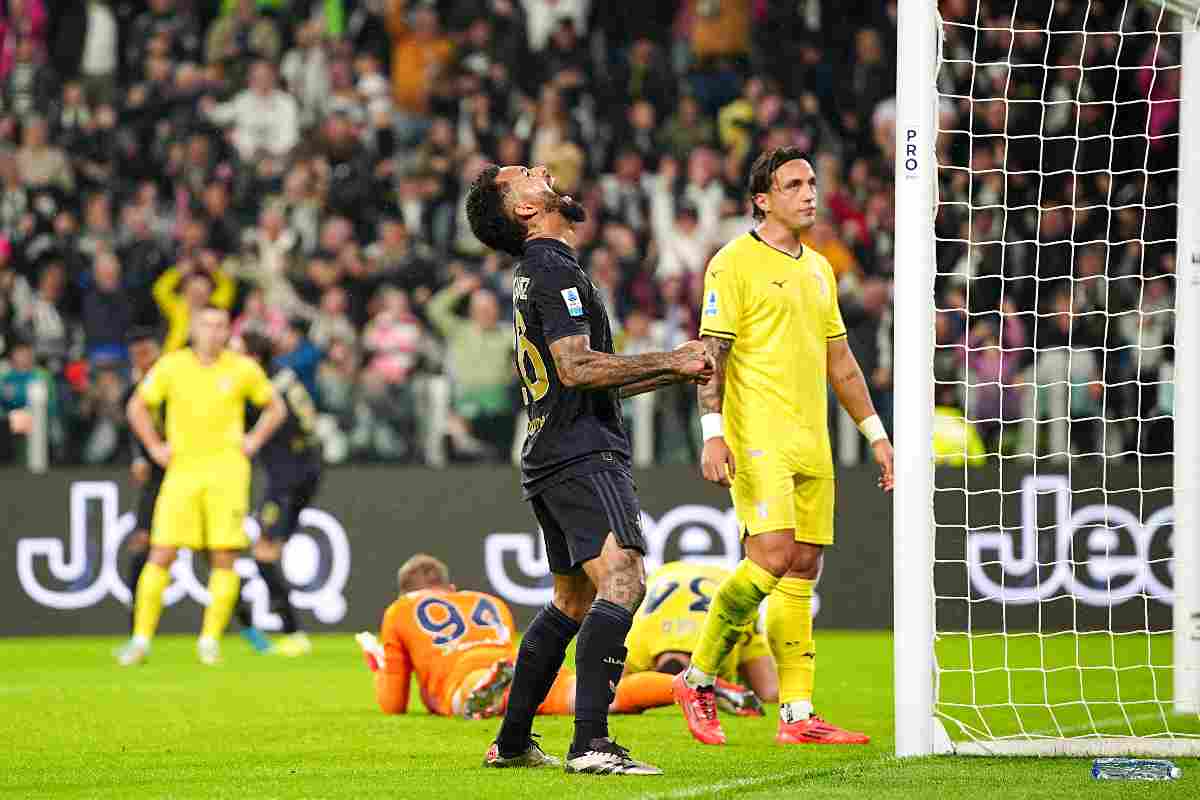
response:
M154 507L150 543L193 551L236 551L250 545L242 524L250 509L250 462L168 467Z

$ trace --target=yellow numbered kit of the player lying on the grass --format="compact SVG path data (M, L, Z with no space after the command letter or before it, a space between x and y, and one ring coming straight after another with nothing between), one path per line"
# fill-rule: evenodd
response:
M724 567L689 561L671 561L655 570L646 581L646 599L625 639L629 672L653 670L662 652L695 650L713 594L728 575ZM738 666L764 655L770 655L767 639L751 625L721 664L720 675L737 681Z

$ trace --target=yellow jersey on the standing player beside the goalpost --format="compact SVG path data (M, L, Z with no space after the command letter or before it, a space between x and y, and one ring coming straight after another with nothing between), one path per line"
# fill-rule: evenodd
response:
M790 471L833 477L827 343L846 325L824 257L811 247L790 255L755 231L738 236L708 265L700 333L734 343L724 416L736 457L769 451Z

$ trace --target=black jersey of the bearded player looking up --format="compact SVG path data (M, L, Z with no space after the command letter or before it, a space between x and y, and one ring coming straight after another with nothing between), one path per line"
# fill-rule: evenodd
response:
M564 386L550 345L587 333L592 349L612 353L612 327L600 293L575 251L557 239L526 245L512 282L517 371L529 414L521 455L526 498L575 475L629 469L629 435L616 389Z

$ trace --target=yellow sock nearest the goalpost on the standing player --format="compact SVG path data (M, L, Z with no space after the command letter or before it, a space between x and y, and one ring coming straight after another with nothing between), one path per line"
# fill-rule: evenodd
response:
M816 675L816 643L812 640L815 585L816 581L782 578L767 601L767 642L779 672L780 706L798 703L809 712Z

